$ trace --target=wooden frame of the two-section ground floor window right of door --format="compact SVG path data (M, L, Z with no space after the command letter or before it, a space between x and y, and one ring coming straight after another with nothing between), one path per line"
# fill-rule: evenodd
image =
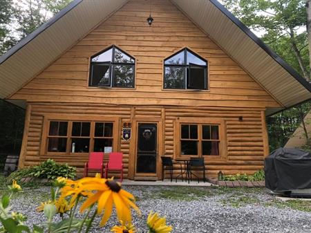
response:
M198 125L198 155L181 155L181 125L182 124L196 124ZM219 134L219 155L209 156L202 155L202 125L218 125ZM174 146L175 146L175 158L187 158L198 157L204 158L205 160L227 160L227 138L225 132L225 120L215 118L179 118L176 120L176 134L174 135Z

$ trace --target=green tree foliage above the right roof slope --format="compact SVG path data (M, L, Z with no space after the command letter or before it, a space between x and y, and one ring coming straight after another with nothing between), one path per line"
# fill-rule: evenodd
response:
M309 78L308 40L304 0L223 0L243 23L305 79ZM299 64L299 59L301 64Z

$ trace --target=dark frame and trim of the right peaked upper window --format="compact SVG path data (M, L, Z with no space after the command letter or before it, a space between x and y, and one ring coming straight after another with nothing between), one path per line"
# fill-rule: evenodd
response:
M189 51L189 53L191 53L192 55L194 55L195 57L198 57L200 59L202 59L204 62L206 62L206 66L202 66L202 65L198 65L198 64L192 64L189 63L187 64L187 51ZM180 52L184 52L184 60L185 60L185 64L165 64L165 61L170 59L171 57L174 57L175 55L177 55ZM190 68L191 65L195 65L195 66L200 66L200 67L204 67L205 68L205 88L200 88L200 89L196 89L196 88L187 88L187 80L189 77L187 77L187 68ZM169 57L166 57L162 60L162 77L163 77L163 84L162 84L162 91L209 91L209 61L207 59L205 59L204 57L202 57L201 55L199 55L198 53L194 52L193 50L189 49L188 47L184 47L180 50L178 50L176 53L173 53L173 55L170 55ZM166 67L184 67L185 68L185 84L183 85L184 88L165 88L165 68Z

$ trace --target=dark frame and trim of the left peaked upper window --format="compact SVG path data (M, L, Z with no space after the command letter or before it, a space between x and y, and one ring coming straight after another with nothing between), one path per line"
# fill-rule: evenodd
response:
M111 62L92 62L92 59L94 57L97 57L98 55L101 55L102 53L105 53L106 51L112 50L112 61ZM117 48L118 50L120 50L122 53L124 53L125 55L131 57L134 60L134 63L120 63L120 62L115 62L115 48ZM91 57L89 57L88 59L88 83L87 83L87 87L88 88L113 88L113 89L135 89L136 88L136 58L133 57L132 55L130 55L129 53L127 53L126 51L124 51L123 49L119 48L118 46L115 46L115 44L108 46L106 48L104 48L104 50L101 50L98 53L95 53L95 55L92 55ZM93 64L105 64L109 66L109 83L110 86L91 86L91 82L92 82L92 74L93 74ZM113 86L113 67L117 66L117 65L123 65L123 66L133 66L133 86L129 87L129 86Z

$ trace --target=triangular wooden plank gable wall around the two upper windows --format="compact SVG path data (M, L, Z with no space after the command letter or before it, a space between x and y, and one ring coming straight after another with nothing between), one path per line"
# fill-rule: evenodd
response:
M28 102L132 105L280 107L241 66L171 1L133 0L89 32L42 73L13 94ZM88 87L89 59L116 45L136 59L135 88ZM190 48L209 62L209 90L163 89L163 60Z

